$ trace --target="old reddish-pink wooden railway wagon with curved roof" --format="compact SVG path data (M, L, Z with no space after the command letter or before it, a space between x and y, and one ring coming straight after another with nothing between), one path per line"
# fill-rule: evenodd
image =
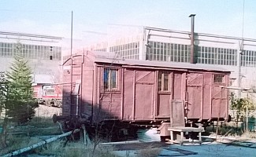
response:
M224 87L229 75L229 71L204 64L124 60L106 52L77 53L63 64L60 119L73 127L117 121L140 126L165 122L192 126L228 120L228 89ZM119 126L125 130L122 127L127 125Z

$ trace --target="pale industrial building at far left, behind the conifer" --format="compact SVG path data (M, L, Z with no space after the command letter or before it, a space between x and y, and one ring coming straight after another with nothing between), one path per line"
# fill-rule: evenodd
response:
M54 96L51 85L61 78L61 37L0 31L0 72L9 71L15 56L28 59L36 97ZM39 88L40 86L40 88Z

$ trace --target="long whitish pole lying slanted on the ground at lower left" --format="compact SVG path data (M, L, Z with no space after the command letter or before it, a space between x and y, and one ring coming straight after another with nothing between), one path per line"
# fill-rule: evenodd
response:
M29 146L29 147L27 147L27 148L22 148L22 149L19 149L19 150L17 150L17 151L10 152L10 153L8 153L8 154L6 154L6 155L3 155L2 157L10 157L10 156L14 156L14 155L19 155L19 154L24 153L24 152L28 152L28 151L30 151L30 150L32 150L32 149L34 149L34 148L38 148L39 146L42 146L42 145L44 145L44 144L49 144L50 142L56 141L56 140L58 140L58 139L61 138L61 137L67 137L67 136L69 136L71 133L77 133L78 131L80 131L80 130L79 130L79 129L76 129L76 130L74 130L74 131L69 131L69 132L67 132L67 133L63 133L63 134L61 134L61 135L58 135L57 137L49 138L49 139L47 139L47 140L45 140L45 141L39 142L38 144L33 144L32 146Z

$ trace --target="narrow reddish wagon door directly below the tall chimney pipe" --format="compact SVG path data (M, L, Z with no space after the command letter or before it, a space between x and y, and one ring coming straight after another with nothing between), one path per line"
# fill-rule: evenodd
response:
M187 118L200 119L202 112L202 74L187 74Z

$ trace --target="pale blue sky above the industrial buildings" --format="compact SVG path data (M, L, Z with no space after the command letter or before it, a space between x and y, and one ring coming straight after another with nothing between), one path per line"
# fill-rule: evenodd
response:
M188 16L196 14L195 32L256 38L255 6L254 0L0 0L0 31L71 38L72 19L73 38L90 42L114 27L190 31Z

